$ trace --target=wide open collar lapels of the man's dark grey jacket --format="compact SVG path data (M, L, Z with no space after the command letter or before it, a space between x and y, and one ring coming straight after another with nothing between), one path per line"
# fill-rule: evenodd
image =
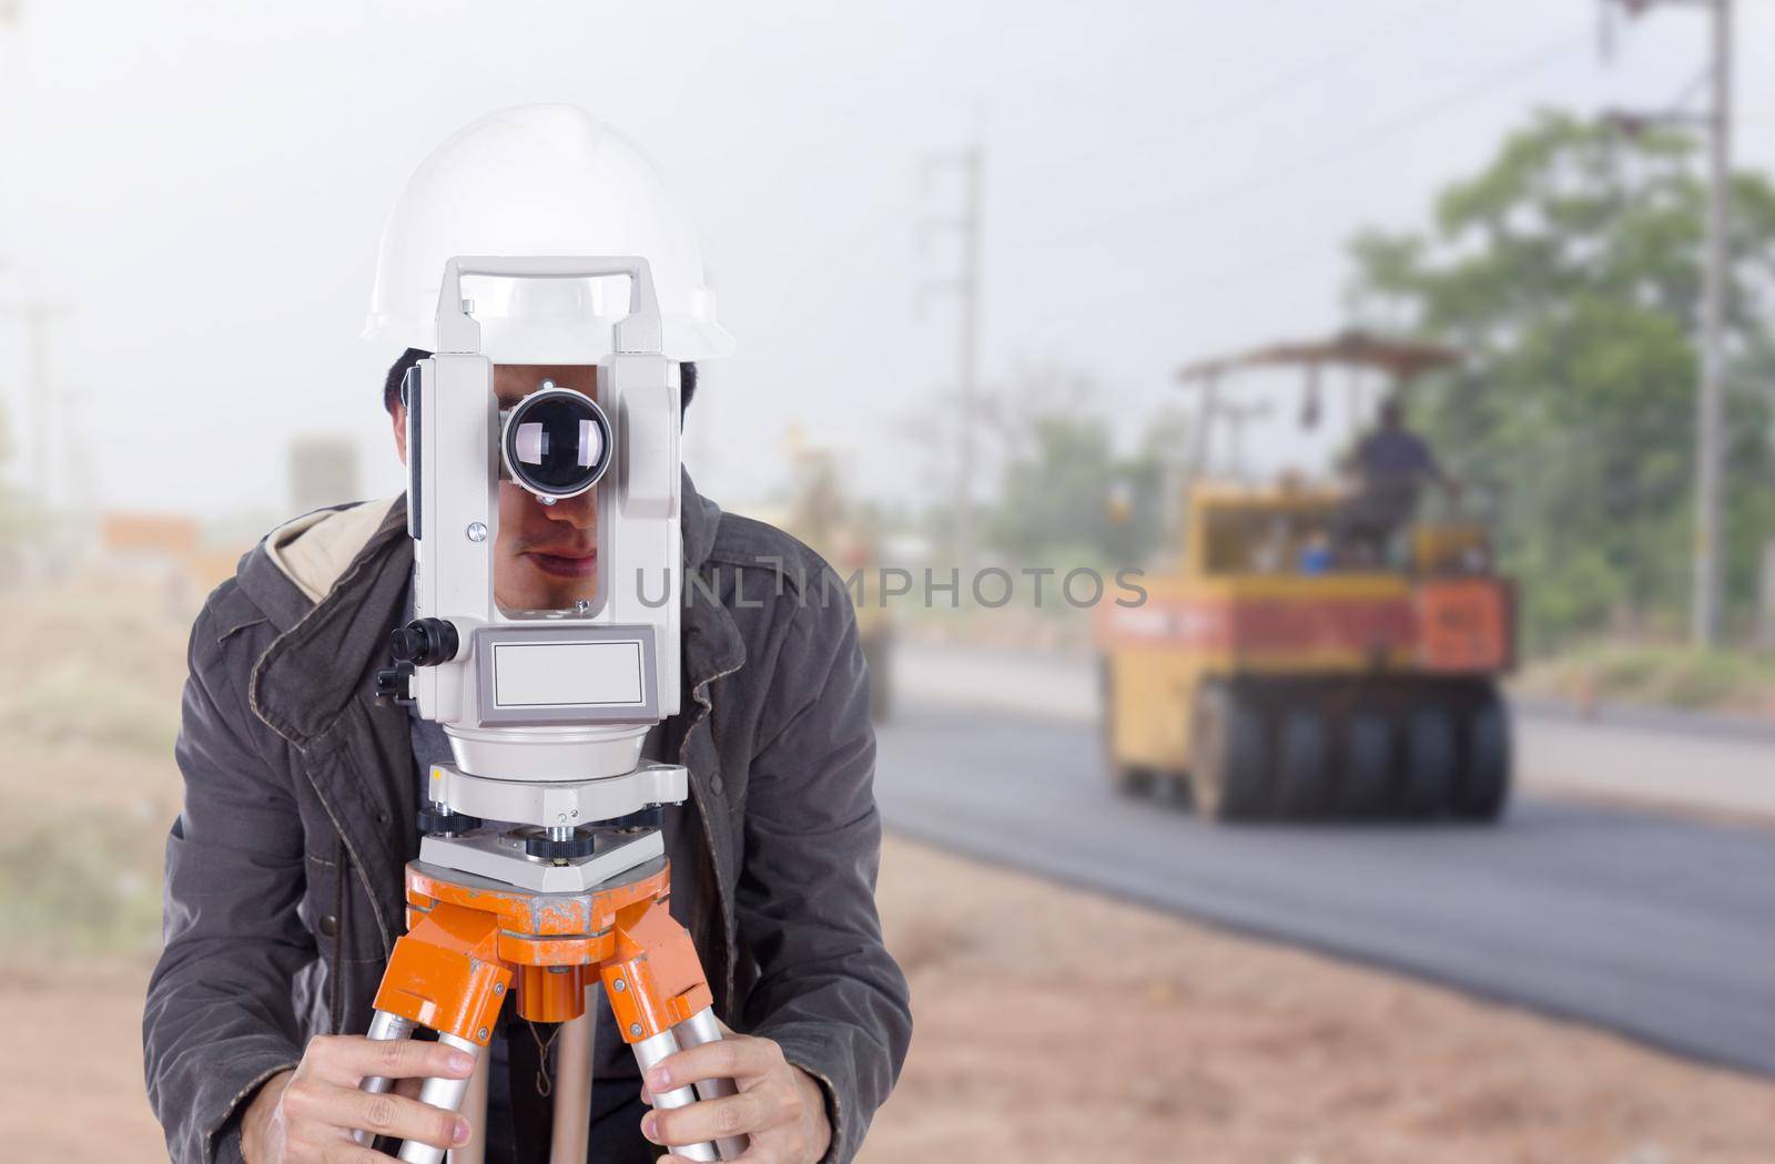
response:
M683 568L703 568L721 527L721 506L696 492L690 474L680 490ZM382 664L389 630L401 619L414 570L406 536L406 495L394 500L344 573L316 603L270 554L270 538L245 557L238 584L282 633L254 664L248 699L254 713L296 747L323 735L353 696L369 697L367 676ZM685 688L706 706L706 687L746 664L733 616L696 596L683 609Z

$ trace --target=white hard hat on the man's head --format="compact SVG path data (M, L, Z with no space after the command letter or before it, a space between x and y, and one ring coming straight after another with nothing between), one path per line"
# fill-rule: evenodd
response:
M683 206L616 130L572 105L520 105L453 133L406 179L376 256L364 335L437 350L438 287L456 256L641 256L664 353L730 355ZM463 277L481 351L508 364L591 364L628 314L623 280Z

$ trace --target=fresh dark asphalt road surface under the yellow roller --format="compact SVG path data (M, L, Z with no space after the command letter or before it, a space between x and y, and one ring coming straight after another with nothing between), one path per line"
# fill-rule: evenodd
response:
M880 728L877 795L974 857L1775 1075L1766 827L1535 793L1491 827L1207 827L1115 795L1088 724L928 703Z

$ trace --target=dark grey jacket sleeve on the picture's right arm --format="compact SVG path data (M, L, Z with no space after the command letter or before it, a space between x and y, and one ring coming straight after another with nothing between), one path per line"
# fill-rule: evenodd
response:
M880 814L868 672L848 602L801 603L783 639L746 795L740 937L758 962L744 1022L825 1089L848 1164L912 1036L875 912Z

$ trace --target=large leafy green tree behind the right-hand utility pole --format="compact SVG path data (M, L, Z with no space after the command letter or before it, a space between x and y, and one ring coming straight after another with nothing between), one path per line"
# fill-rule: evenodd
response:
M1727 593L1741 619L1771 527L1775 190L1741 174L1732 199ZM1544 112L1445 190L1425 229L1351 245L1360 323L1471 353L1411 408L1456 476L1495 486L1532 646L1681 625L1702 208L1688 137Z

